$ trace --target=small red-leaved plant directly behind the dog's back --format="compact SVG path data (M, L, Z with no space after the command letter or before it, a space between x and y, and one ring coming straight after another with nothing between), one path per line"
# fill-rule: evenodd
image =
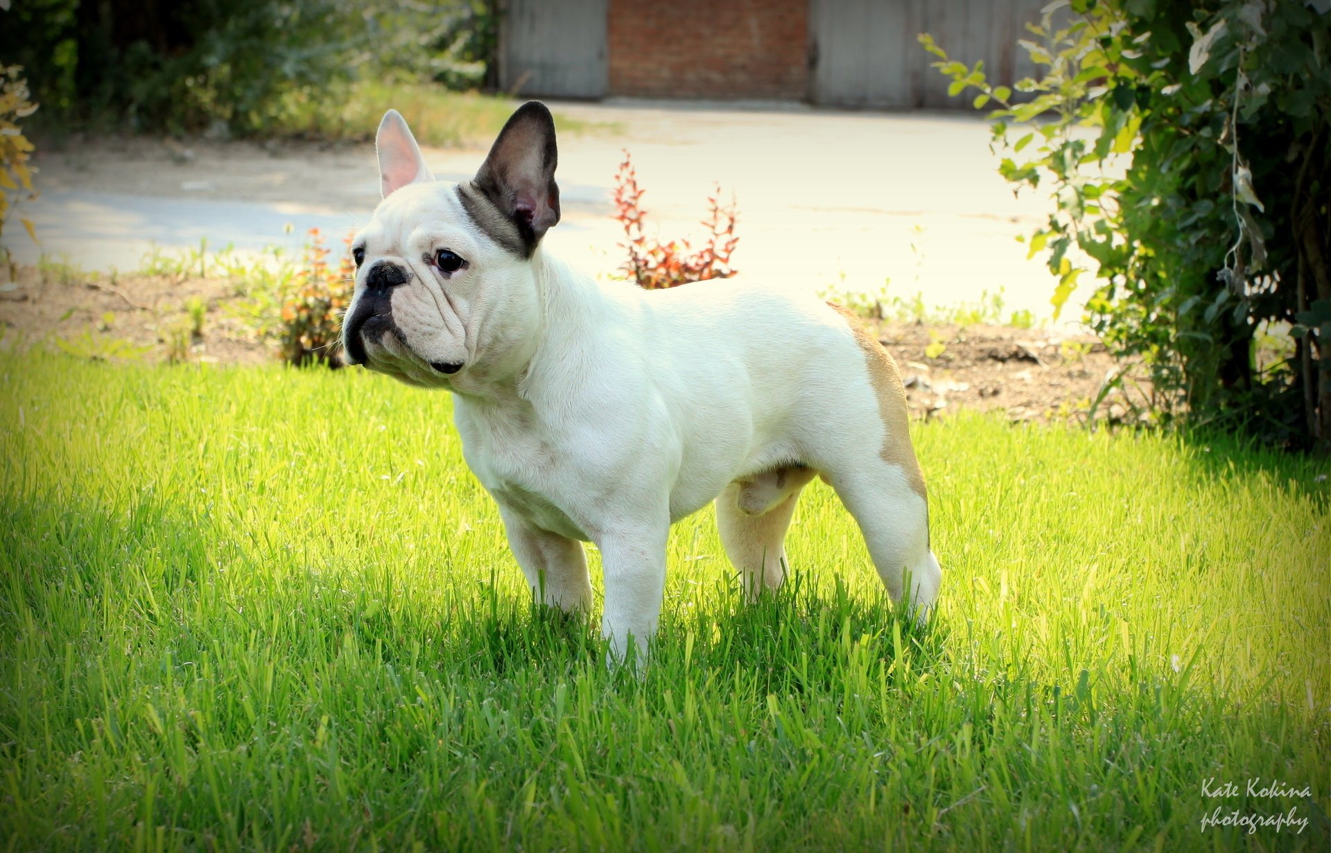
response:
M648 237L643 220L643 193L638 185L638 172L624 150L624 161L615 173L615 218L624 226L627 242L620 244L628 252L628 259L620 267L626 277L632 278L647 290L676 287L691 281L708 278L729 278L736 273L731 266L731 253L739 244L735 236L736 205L733 196L729 205L720 202L721 188L707 197L707 240L697 249L687 240L660 242Z

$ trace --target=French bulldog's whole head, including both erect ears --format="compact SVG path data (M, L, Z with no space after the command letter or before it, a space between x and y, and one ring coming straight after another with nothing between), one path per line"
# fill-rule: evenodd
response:
M375 149L383 200L351 244L347 361L454 390L516 369L540 322L532 256L559 221L550 110L518 108L462 184L434 180L397 110Z

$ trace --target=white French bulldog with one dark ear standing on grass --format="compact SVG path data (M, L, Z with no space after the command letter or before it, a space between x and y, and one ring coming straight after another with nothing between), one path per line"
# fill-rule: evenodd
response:
M383 201L353 244L351 363L446 389L463 455L547 604L590 609L582 542L606 570L602 631L646 653L673 522L716 500L745 592L785 576L785 530L821 475L916 615L942 572L892 357L847 311L741 278L647 291L540 245L559 221L555 125L531 101L476 177L435 182L395 110Z

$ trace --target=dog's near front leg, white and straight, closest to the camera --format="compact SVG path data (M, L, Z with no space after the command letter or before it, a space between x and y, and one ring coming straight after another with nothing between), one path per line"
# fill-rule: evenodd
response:
M647 644L656 633L666 590L666 540L669 519L636 524L596 536L606 571L606 609L600 632L610 641L610 659L623 663L630 637L636 660L647 661Z

